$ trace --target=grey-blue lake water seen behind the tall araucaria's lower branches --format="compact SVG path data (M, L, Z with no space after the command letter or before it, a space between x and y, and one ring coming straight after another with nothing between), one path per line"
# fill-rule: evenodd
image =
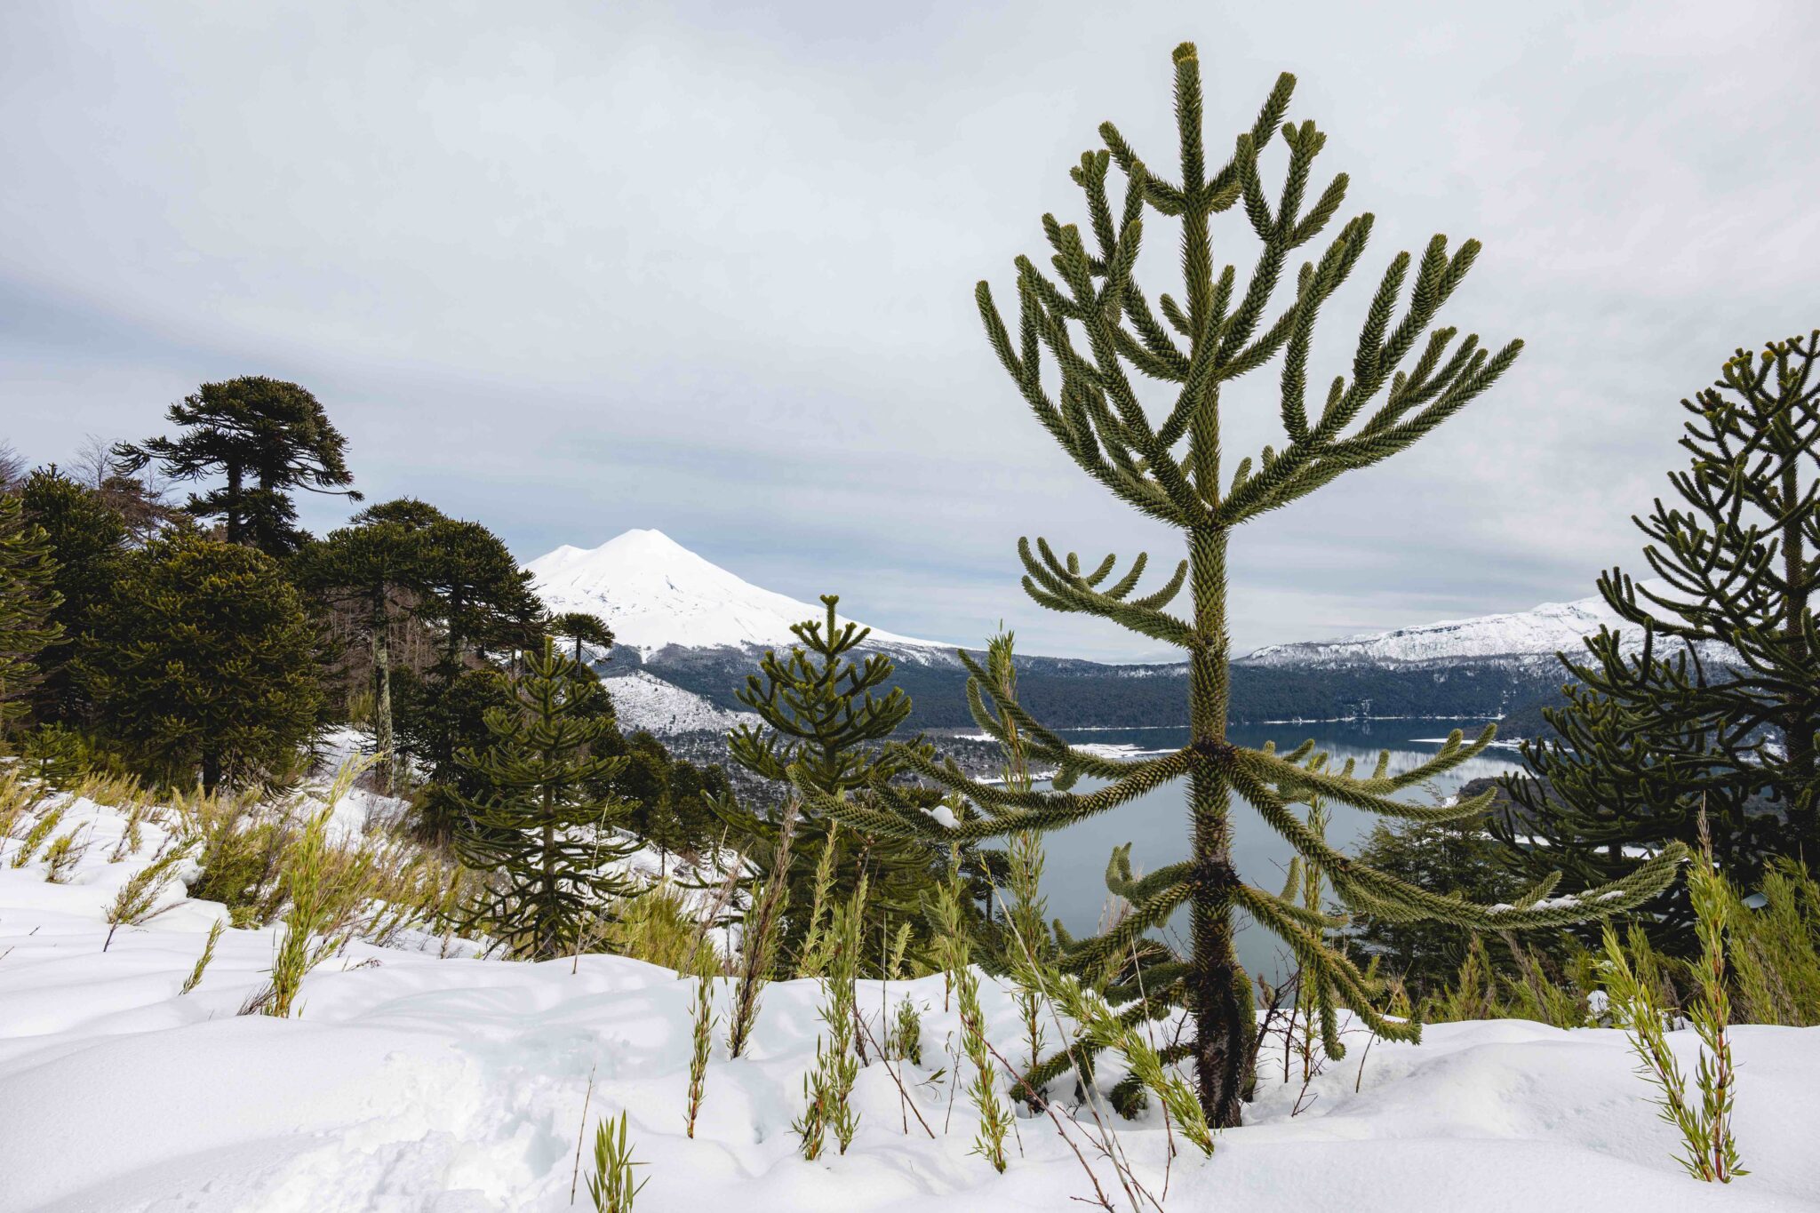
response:
M1440 742L1452 729L1461 729L1472 738L1483 720L1338 720L1318 724L1276 724L1276 726L1234 726L1227 738L1236 746L1261 747L1267 740L1276 740L1279 753L1287 753L1307 738L1314 738L1320 751L1330 755L1329 766L1338 769L1347 758L1356 758L1361 773L1370 773L1378 762L1378 751L1390 751L1390 771L1407 771L1425 762L1440 749ZM1072 729L1067 735L1070 744L1121 746L1138 751L1167 751L1188 742L1188 729ZM1460 764L1447 775L1436 778L1429 787L1409 789L1400 795L1403 800L1427 802L1431 793L1449 797L1469 780L1503 775L1518 769L1520 758L1511 749L1489 749L1478 758ZM1081 778L1076 791L1103 787L1103 780ZM1043 893L1048 897L1048 913L1061 918L1063 926L1076 935L1088 935L1099 929L1101 915L1107 907L1107 860L1112 847L1132 844L1132 867L1138 873L1156 871L1165 864L1174 864L1188 855L1188 782L1178 780L1158 787L1138 800L1132 800L1110 813L1057 829L1045 835L1046 866L1043 869ZM1354 849L1370 827L1380 820L1372 813L1361 813L1343 804L1329 804L1330 822L1327 838L1341 849ZM1232 800L1232 849L1239 875L1250 884L1276 893L1283 887L1289 860L1294 855L1274 829L1270 829L1256 811L1239 797ZM1187 911L1170 924L1178 947L1185 947ZM1274 935L1245 922L1238 933L1239 958L1256 975L1281 975L1292 969L1281 955L1281 944Z

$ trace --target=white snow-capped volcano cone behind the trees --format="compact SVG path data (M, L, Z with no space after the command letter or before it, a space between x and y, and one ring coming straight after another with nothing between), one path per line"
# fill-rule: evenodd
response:
M788 647L792 624L826 607L761 589L703 560L662 531L626 531L599 547L564 544L524 566L551 611L599 615L615 644L659 649ZM843 604L844 607L846 604ZM841 613L843 622L846 613ZM948 653L954 646L874 629L868 644Z

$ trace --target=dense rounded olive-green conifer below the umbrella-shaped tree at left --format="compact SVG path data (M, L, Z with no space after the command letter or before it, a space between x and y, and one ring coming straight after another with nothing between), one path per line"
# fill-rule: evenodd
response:
M317 637L277 560L173 529L122 562L76 658L100 729L171 782L253 782L315 727Z

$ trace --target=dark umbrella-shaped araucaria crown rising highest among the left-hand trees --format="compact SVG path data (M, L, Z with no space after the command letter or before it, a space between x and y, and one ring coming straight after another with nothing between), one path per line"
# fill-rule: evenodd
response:
M122 473L151 462L173 480L226 484L191 495L187 511L220 518L229 544L248 544L282 556L297 549L293 489L360 500L349 489L353 473L344 460L346 438L329 424L322 404L297 384L246 375L202 387L173 404L177 438L122 442L115 447Z

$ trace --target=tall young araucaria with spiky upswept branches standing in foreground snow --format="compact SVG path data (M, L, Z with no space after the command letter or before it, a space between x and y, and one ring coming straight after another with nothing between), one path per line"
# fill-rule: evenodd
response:
M1420 1033L1418 1024L1387 1020L1372 1009L1370 982L1350 958L1323 940L1323 931L1338 926L1334 918L1239 877L1232 860L1234 797L1254 806L1267 826L1305 860L1318 864L1347 906L1405 920L1440 918L1469 929L1552 927L1627 909L1673 878L1682 851L1663 851L1627 878L1580 897L1549 898L1552 880L1543 880L1518 904L1472 906L1443 891L1414 887L1332 849L1294 806L1321 798L1414 820L1481 813L1487 797L1425 807L1403 804L1394 793L1480 753L1492 729L1487 727L1471 746L1463 746L1454 733L1434 758L1400 775L1387 773L1385 755L1369 777L1320 769L1320 764L1309 762L1312 742L1279 755L1270 746L1249 749L1227 740L1227 546L1232 533L1341 473L1370 467L1410 446L1491 387L1520 346L1512 342L1492 353L1480 346L1478 336L1456 342L1452 327L1429 333L1480 247L1469 240L1449 253L1447 240L1436 236L1414 264L1407 253L1390 260L1365 313L1350 376L1336 376L1310 411L1314 322L1363 255L1372 216L1347 220L1318 256L1287 273L1296 249L1327 229L1345 198L1347 178L1341 175L1312 207L1303 209L1309 173L1325 136L1312 122L1279 125L1294 87L1294 78L1285 75L1265 100L1258 122L1238 136L1232 158L1210 169L1201 140L1201 69L1194 45L1183 44L1174 58L1181 176L1168 182L1152 175L1114 125L1101 125L1107 149L1087 153L1070 171L1087 195L1087 238L1094 247L1088 249L1074 224L1043 216L1043 231L1054 247L1056 278L1039 273L1028 258L1017 260L1016 331L1006 329L986 284L979 284L977 300L999 362L1050 436L1114 496L1179 527L1188 549L1188 558L1161 589L1139 593L1141 555L1127 573L1114 576L1114 556L1083 567L1074 555L1057 556L1045 540L1037 540L1034 549L1025 540L1019 542L1025 591L1045 607L1097 615L1181 647L1188 657L1192 740L1178 751L1132 762L1074 749L999 695L985 671L968 662L974 673L968 697L981 727L1005 738L1006 724L1016 724L1032 766L1059 771L1054 791L979 784L952 764L905 751L912 769L961 793L981 815L943 826L928 813L914 811L892 787L875 787L885 809L863 802L815 802L863 831L957 842L1017 829L1056 829L1117 807L1159 784L1187 778L1190 857L1143 878L1130 878L1128 864L1114 862L1108 884L1130 900L1132 913L1107 935L1072 942L1065 964L1074 971L1103 967L1108 957L1130 953L1145 931L1168 920L1178 907L1188 907L1192 953L1178 964L1152 969L1143 997L1125 1015L1136 1022L1143 1015L1161 1017L1168 1006L1187 1009L1192 1038L1172 1051L1170 1060L1192 1057L1201 1106L1208 1124L1218 1128L1239 1122L1256 1022L1250 982L1234 951L1234 918L1239 913L1278 935L1296 955L1303 980L1314 991L1325 1048L1332 1057L1343 1051L1336 1007L1349 1007L1387 1038L1414 1040ZM1289 169L1281 195L1272 202L1259 178L1259 153L1278 135L1289 145ZM1114 165L1127 182L1119 206L1107 191ZM1214 266L1210 236L1212 216L1234 206L1263 244L1256 267L1243 282L1232 266ZM1181 226L1185 289L1179 298L1163 295L1152 304L1134 278L1145 211ZM1276 311L1272 300L1279 286L1289 287L1290 298ZM1405 287L1409 302L1398 315ZM1059 384L1043 382L1045 349L1059 369ZM1285 442L1227 467L1219 429L1221 393L1232 380L1278 356ZM1145 409L1134 376L1168 386L1174 400L1165 413L1154 416ZM1369 404L1372 411L1367 413ZM1363 422L1358 420L1361 416ZM1188 589L1188 609L1170 613L1167 607L1183 587ZM1090 793L1070 791L1081 775L1108 782Z

